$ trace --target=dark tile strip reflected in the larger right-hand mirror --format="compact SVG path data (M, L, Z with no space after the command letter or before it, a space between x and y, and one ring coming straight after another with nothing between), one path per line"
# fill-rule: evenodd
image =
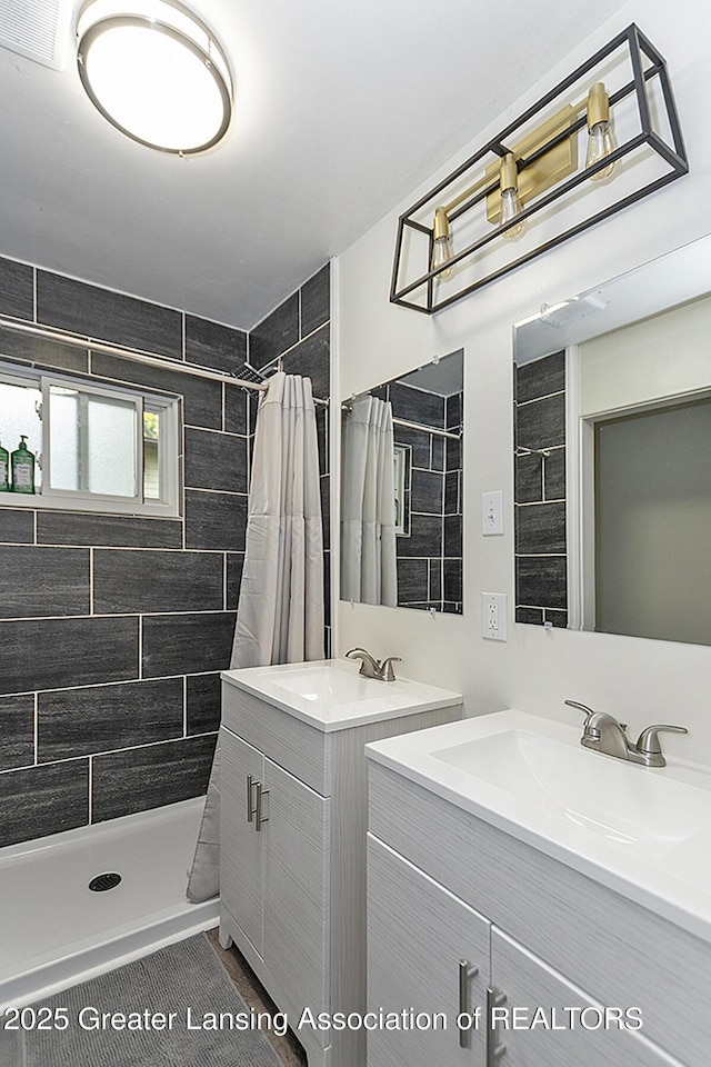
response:
M568 624L565 544L565 353L514 372L514 439L548 456L515 459L515 618Z

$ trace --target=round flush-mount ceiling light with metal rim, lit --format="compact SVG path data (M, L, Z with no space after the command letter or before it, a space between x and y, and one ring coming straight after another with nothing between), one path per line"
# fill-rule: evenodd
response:
M77 62L92 103L141 144L188 156L212 148L227 132L227 57L182 4L90 0L77 22Z

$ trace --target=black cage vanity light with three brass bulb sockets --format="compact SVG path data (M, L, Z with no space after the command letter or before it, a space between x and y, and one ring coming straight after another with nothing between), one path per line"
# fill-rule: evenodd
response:
M632 24L400 217L390 300L432 315L688 170L667 64Z

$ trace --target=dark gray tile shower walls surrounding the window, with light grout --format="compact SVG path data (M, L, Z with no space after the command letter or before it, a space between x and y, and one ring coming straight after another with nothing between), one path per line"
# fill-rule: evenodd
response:
M281 356L284 369L313 373L317 396L330 391L328 266L251 337L8 259L0 312L221 373L239 373L250 351ZM2 357L181 396L184 489L177 519L21 510L0 495L0 846L204 792L244 558L254 407L238 386L90 345L4 330ZM328 501L326 411L320 425Z

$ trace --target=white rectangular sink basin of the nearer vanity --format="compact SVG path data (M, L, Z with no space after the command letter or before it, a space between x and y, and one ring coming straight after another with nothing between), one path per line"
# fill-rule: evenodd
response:
M711 826L711 792L525 730L432 752L468 775L610 840L667 851Z

